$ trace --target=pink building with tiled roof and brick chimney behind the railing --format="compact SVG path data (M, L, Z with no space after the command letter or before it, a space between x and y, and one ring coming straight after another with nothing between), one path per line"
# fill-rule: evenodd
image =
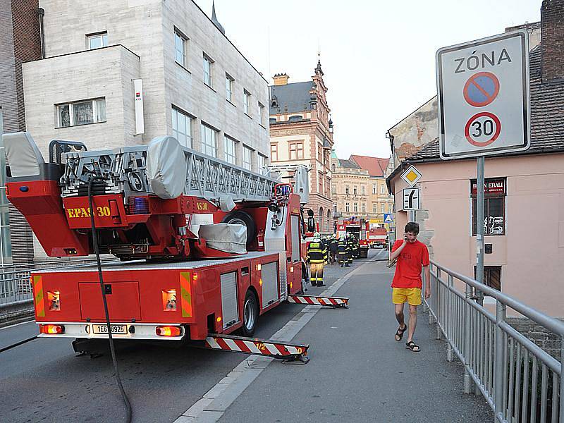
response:
M531 36L541 28L541 42L532 42L529 54L531 147L486 158L484 282L563 317L564 2L543 1L541 23L524 26ZM393 141L396 154L398 137ZM441 161L438 140L424 145L388 177L396 207L407 186L399 176L410 164L423 176L417 183L421 209L415 213L419 238L437 262L474 276L475 159ZM398 211L396 220L398 231L403 230L406 212Z

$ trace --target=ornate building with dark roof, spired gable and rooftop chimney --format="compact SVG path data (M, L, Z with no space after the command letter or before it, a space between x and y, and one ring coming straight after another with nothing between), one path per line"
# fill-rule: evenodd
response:
M274 165L305 164L309 170L309 202L321 233L333 231L331 149L333 122L321 62L312 80L288 83L286 73L274 75L270 87L270 158Z

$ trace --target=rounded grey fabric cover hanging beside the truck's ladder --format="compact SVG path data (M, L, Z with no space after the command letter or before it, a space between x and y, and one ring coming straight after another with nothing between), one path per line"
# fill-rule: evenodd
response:
M153 192L164 200L182 194L186 186L186 160L176 138L157 137L149 142L147 179Z

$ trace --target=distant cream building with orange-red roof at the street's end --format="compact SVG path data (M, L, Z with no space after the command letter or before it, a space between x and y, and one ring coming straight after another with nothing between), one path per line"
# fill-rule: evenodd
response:
M358 156L348 160L331 157L333 217L357 216L372 223L384 223L384 213L393 212L393 197L386 188L390 159Z

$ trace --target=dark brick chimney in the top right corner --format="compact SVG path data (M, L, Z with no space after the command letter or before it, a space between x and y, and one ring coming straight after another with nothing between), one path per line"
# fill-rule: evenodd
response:
M541 6L542 82L564 78L564 1L543 0Z

